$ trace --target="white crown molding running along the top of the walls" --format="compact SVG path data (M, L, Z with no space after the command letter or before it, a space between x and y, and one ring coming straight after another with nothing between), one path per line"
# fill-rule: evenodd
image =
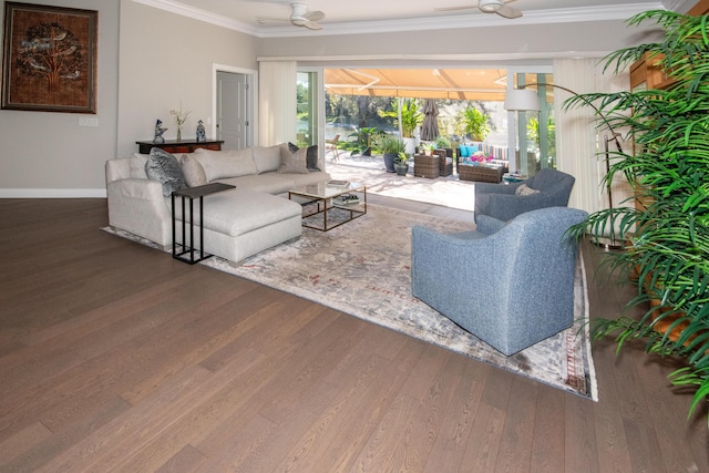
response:
M430 31L481 27L516 27L522 24L549 24L587 21L627 20L634 14L647 10L667 10L664 3L671 3L672 10L688 0L665 0L647 3L612 6L612 7L579 7L569 9L535 10L525 12L522 18L508 20L497 14L455 14L445 17L380 20L349 23L322 23L321 30L308 30L292 25L265 28L253 27L242 21L233 20L206 10L185 6L174 0L132 0L148 7L154 7L172 13L205 21L218 27L227 28L258 38L294 38L294 37L327 37L341 34L372 34L403 31ZM690 6L691 7L691 6Z

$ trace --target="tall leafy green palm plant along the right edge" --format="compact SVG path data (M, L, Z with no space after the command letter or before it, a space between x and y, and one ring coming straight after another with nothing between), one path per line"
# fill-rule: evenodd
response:
M614 153L604 177L623 173L636 187L640 205L605 209L576 228L607 235L618 228L625 251L609 255L609 266L638 278L629 306L655 300L640 320L629 317L593 322L596 338L615 335L618 349L630 339L646 351L685 357L687 367L670 378L696 388L690 414L709 397L709 34L707 17L657 10L628 20L654 21L665 31L658 43L623 49L606 58L614 73L644 55L659 61L671 83L665 90L592 93L564 106L595 103L616 128L628 130L633 153ZM664 327L661 330L660 327Z

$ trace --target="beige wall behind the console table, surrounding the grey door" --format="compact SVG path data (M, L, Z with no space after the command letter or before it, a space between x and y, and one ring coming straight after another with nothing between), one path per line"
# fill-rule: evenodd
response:
M117 154L152 140L161 119L177 133L169 111L191 111L183 140L194 137L197 121L212 117L213 63L257 70L257 39L133 1L121 4ZM207 131L210 126L206 126ZM213 137L213 136L209 136Z

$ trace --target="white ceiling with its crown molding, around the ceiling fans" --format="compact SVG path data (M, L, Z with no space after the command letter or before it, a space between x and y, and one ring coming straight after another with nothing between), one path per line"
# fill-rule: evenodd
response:
M434 11L436 8L477 4L477 0L302 0L309 11L320 10L322 30L294 27L288 21L259 22L263 18L288 20L294 0L134 0L175 13L185 14L257 37L300 34L345 34L384 31L464 28L471 25L510 25L604 19L627 19L651 9L686 12L696 0L513 0L510 7L521 10L518 19L483 13L476 8L460 11Z

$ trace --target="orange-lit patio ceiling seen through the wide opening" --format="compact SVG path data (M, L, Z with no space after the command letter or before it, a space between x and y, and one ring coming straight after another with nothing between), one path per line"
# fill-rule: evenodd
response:
M504 69L326 69L326 91L343 95L503 101Z

